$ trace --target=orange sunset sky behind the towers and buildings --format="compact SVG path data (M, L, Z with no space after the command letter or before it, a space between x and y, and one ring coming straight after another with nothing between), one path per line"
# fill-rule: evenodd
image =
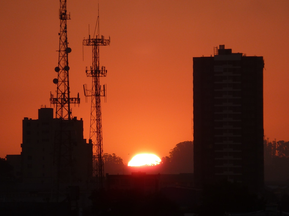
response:
M99 2L100 48L107 77L102 100L103 149L124 163L137 153L168 156L179 142L193 140L193 57L213 55L225 44L233 52L263 56L264 130L269 140L289 140L289 1L67 0L71 97L81 96L73 116L84 120L89 138L91 85L85 66ZM0 1L0 157L20 154L22 119L37 119L50 107L57 74L60 20L57 0Z

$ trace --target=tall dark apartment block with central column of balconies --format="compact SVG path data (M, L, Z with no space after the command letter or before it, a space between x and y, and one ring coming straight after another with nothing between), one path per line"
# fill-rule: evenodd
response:
M262 56L220 45L193 58L194 180L264 184Z

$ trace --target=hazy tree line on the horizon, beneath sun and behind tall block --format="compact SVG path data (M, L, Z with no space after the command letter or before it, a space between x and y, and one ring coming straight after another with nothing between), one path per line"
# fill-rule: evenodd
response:
M153 173L179 174L194 172L194 142L185 141L176 144L169 156L161 158L161 164L150 167ZM289 180L289 141L269 141L264 137L264 173L265 181ZM132 171L115 154L104 154L104 172L109 174L131 174Z

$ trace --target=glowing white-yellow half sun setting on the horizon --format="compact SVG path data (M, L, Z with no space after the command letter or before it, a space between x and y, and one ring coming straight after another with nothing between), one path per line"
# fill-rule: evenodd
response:
M129 167L140 167L143 165L154 166L160 164L160 158L154 154L135 155L128 163Z

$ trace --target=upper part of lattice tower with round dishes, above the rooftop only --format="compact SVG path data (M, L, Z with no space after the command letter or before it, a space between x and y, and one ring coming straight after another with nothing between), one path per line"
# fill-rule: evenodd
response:
M68 14L66 10L66 0L60 0L59 19L59 57L58 66L54 69L57 72L57 78L53 79L53 83L57 84L57 96L54 98L54 95L51 94L50 103L56 104L55 118L71 119L70 104L79 104L80 98L79 94L77 98L70 98L68 53L71 52L71 48L68 47L66 25L66 20L70 19L70 13Z

